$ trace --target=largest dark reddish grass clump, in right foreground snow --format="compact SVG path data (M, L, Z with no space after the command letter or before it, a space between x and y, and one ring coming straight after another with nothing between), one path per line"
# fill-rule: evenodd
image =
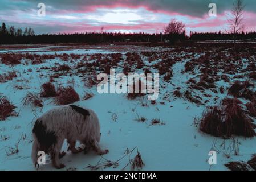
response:
M245 114L239 103L236 99L224 100L224 106L213 106L204 111L200 119L200 130L216 137L254 137L256 133L253 121Z

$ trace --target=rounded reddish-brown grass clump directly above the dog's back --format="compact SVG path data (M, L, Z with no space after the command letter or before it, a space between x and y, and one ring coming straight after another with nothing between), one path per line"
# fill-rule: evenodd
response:
M78 93L76 93L72 86L68 86L67 88L60 87L55 98L55 102L58 105L72 104L79 100Z

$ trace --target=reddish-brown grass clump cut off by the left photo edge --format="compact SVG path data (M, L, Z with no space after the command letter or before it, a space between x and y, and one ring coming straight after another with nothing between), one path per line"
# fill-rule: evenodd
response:
M17 115L14 111L15 108L7 97L0 97L0 121L5 120L9 116Z

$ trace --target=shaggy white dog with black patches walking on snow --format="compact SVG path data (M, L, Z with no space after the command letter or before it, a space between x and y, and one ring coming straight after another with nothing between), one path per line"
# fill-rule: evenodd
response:
M84 150L94 150L97 154L107 154L108 150L101 150L100 123L97 115L90 109L84 109L75 105L58 106L39 117L32 130L34 143L32 146L32 160L38 164L38 151L44 151L51 155L52 164L56 168L63 168L59 158L64 139L69 144L68 150L72 153L76 150L76 140L84 144Z

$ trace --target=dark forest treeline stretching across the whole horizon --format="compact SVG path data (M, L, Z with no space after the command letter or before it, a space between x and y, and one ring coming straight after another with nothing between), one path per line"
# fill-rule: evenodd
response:
M237 34L237 39L255 39L256 32L242 32ZM197 40L232 40L233 34L222 32L190 32L187 36L182 34L147 34L120 33L120 32L84 32L76 34L40 34L35 35L32 28L6 28L5 23L0 27L0 44L29 44L29 43L115 43L115 42L169 42L177 43L183 41Z

